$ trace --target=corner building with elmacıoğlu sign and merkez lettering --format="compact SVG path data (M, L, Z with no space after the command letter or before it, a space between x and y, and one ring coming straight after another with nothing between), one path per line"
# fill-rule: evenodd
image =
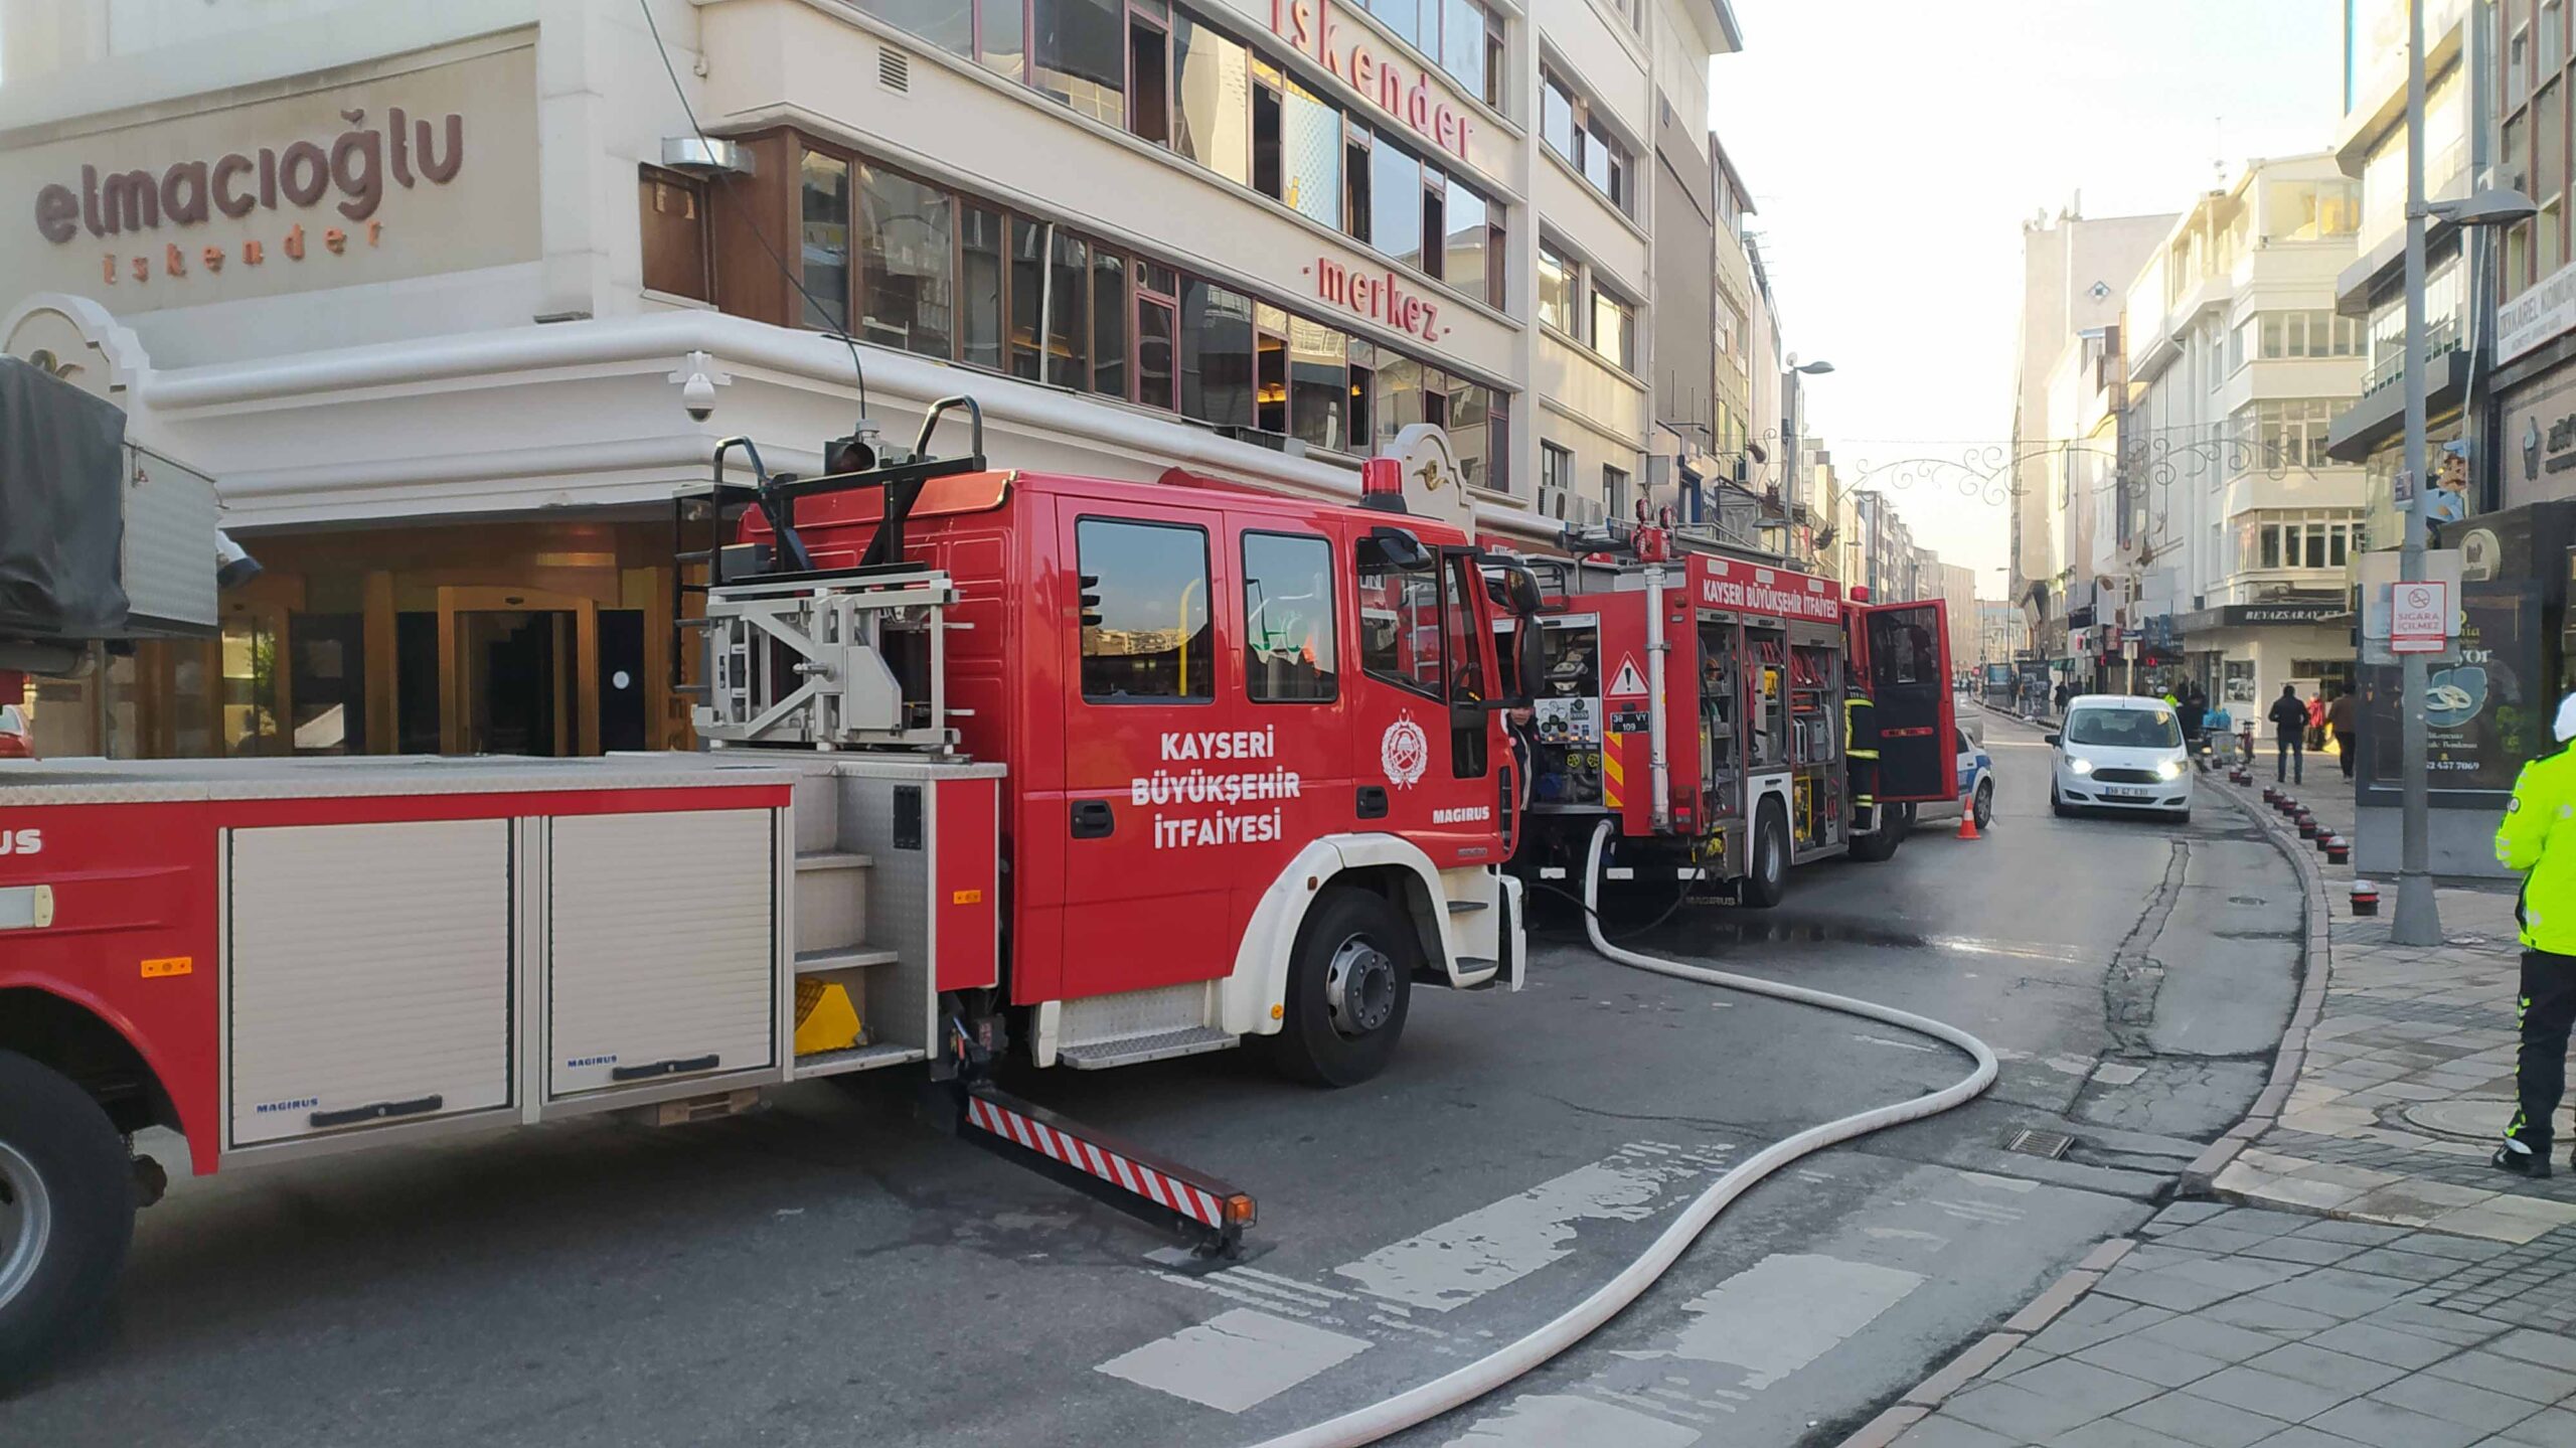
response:
M1705 412L1646 317L1695 273L1708 335L1664 178L1736 46L1726 0L5 0L0 348L268 564L44 747L683 742L672 487L956 392L1010 469L1350 497L1432 423L1504 536L1620 513Z

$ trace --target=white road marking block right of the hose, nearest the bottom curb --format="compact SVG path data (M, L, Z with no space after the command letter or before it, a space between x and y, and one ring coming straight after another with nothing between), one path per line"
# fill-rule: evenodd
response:
M1762 1391L1839 1348L1922 1281L1875 1262L1775 1252L1682 1304L1698 1322L1672 1355L1744 1368L1744 1386Z

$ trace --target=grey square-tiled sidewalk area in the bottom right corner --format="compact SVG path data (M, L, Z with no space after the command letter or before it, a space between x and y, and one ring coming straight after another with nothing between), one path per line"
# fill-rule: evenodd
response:
M1963 1373L1935 1376L1965 1381L1945 1384L1929 1412L1891 1409L1873 1425L1878 1440L2576 1445L2576 1229L2514 1247L2174 1203L2069 1296L2035 1301L1971 1348L1955 1363Z

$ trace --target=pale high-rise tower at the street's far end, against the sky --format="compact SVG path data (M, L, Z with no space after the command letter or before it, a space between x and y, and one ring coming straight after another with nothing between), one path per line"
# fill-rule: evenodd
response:
M2092 533L2081 536L2081 557L2069 538L2074 472L2102 459L2105 405L2099 353L2110 327L2120 322L2123 291L2156 252L2174 216L2081 216L2058 214L2022 227L2022 301L2014 335L2012 441L2004 479L2012 490L2012 600L2030 618L2032 649L2066 678L2089 678L2099 644L2094 642L2092 587L2071 598L2076 572L2089 572ZM2112 428L2115 430L2115 428ZM2117 438L2110 438L2117 446ZM2105 466L2107 477L2110 469ZM2092 482L2087 472L2087 497ZM2089 510L2081 513L2089 518ZM2076 636L2076 629L2087 634ZM2081 647L2079 647L2081 644Z

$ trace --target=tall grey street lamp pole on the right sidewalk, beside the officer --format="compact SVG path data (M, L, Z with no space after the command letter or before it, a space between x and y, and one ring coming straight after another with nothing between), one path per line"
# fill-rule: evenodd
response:
M2535 211L2519 191L2481 191L2465 201L2424 201L2424 0L2406 0L2406 546L2398 551L2398 580L2424 577L2424 510L2432 487L2424 479L2424 222L2439 216L2455 227L2509 227ZM2398 912L2388 938L2398 946L2439 946L2442 910L2432 891L2432 783L2424 773L2429 747L2424 719L2424 654L2406 654L2398 698L2398 752L2403 788L2398 799Z

